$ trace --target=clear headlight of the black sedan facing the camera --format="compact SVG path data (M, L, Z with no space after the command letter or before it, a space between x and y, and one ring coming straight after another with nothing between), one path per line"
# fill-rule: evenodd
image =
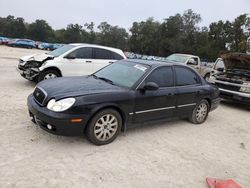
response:
M75 101L75 98L66 98L59 101L51 99L47 104L47 108L54 112L62 112L73 106Z

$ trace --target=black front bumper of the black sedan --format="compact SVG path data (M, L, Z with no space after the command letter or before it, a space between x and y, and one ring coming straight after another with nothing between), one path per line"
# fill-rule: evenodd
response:
M27 104L32 121L45 131L62 136L83 135L87 117L81 114L65 114L50 111L46 107L38 105L32 94L29 95ZM82 122L73 123L71 122L73 118L81 118L83 120ZM51 129L48 128L48 125L51 126Z

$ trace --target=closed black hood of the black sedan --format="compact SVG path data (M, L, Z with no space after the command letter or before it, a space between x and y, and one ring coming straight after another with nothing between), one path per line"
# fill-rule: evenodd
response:
M42 88L47 93L48 100L125 90L92 76L54 78L40 82L37 87Z

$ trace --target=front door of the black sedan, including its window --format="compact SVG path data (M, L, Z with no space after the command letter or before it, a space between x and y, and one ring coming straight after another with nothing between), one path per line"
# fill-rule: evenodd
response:
M144 83L155 82L158 84L159 89L156 91L136 91L134 123L165 119L173 116L176 103L173 75L173 70L170 66L156 68L149 74Z

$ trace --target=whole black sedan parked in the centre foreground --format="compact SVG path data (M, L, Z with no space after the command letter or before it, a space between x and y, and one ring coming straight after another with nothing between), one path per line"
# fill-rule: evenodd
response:
M57 135L86 134L96 145L126 128L189 118L203 123L219 90L185 65L121 60L89 76L46 80L28 97L33 122Z

